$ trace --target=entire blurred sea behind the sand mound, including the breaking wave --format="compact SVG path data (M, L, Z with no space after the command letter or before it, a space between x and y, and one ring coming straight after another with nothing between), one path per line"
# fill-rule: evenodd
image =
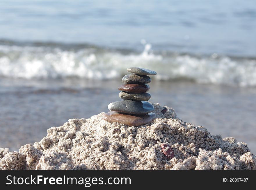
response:
M107 112L127 67L152 102L256 152L256 3L0 1L0 147Z

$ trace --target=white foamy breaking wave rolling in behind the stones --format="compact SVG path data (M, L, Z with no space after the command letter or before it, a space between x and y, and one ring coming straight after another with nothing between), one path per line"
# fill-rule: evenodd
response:
M0 45L0 76L24 79L115 79L127 74L127 67L157 71L153 79L188 79L198 83L256 86L256 59L154 52L144 43L141 53L96 46L58 44Z

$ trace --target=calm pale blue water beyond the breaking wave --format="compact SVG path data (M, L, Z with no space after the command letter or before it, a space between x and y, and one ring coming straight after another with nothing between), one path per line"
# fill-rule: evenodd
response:
M8 0L0 38L255 57L254 0Z

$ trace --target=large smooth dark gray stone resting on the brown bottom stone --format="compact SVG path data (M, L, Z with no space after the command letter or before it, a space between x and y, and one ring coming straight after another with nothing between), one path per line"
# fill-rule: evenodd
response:
M154 106L145 101L122 100L108 105L109 110L120 113L142 115L154 110Z

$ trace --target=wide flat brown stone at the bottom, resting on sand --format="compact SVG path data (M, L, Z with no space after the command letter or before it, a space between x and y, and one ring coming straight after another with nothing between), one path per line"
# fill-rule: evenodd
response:
M156 114L152 112L144 115L132 115L110 111L103 115L103 119L107 122L118 122L128 126L141 126L144 124L148 124L155 120L156 117Z

